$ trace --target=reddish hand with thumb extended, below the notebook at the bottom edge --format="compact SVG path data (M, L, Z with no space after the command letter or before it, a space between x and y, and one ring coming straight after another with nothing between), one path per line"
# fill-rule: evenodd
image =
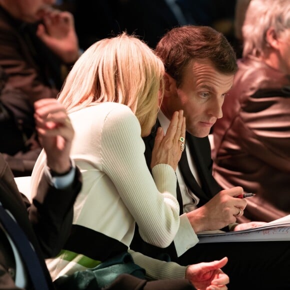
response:
M189 265L185 278L198 290L225 290L229 277L220 269L227 263L227 257L212 262Z

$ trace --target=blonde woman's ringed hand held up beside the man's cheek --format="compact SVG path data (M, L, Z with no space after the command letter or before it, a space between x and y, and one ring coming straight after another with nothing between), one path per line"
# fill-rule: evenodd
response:
M183 137L183 141L180 141ZM181 157L181 144L185 142L185 117L183 111L173 113L170 125L164 135L161 127L157 129L154 147L152 150L151 168L157 164L165 163L174 170L177 168Z

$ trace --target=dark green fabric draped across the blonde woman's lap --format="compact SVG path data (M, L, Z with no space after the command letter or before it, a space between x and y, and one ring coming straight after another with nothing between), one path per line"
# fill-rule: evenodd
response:
M123 273L145 279L145 270L133 262L128 252L124 252L94 268L61 276L54 281L54 285L63 290L98 290L111 284Z

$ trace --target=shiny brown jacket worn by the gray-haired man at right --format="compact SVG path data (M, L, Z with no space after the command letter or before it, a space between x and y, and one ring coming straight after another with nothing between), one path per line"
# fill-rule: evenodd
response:
M213 174L256 193L244 215L269 221L290 212L290 76L253 57L238 67L212 131Z

